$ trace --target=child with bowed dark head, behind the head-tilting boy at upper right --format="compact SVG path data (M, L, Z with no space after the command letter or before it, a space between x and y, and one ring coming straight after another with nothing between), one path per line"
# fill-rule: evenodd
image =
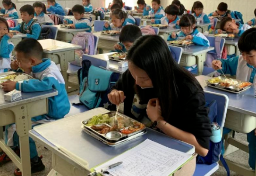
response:
M217 10L210 13L208 16L220 16L220 17L230 17L230 18L234 18L236 19L236 16L234 14L233 11L228 10L228 4L225 2L221 2L218 7Z

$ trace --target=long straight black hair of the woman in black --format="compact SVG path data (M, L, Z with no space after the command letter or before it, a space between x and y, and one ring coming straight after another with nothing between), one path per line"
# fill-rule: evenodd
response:
M181 81L186 80L190 85L202 89L196 78L174 61L160 36L140 37L128 51L126 59L144 70L151 79L165 120L171 117L178 102Z

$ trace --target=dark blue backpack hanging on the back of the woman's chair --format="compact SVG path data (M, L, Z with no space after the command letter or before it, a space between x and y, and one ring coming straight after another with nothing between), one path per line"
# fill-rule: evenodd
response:
M217 107L216 100L213 100L210 103L206 102L205 106L209 108L208 117L210 118L211 124L213 122L217 122L218 107ZM198 155L197 158L196 158L196 163L197 164L211 165L213 163L218 162L219 160L221 160L223 167L226 169L227 176L230 176L230 169L229 169L228 164L226 163L226 161L224 160L223 155L222 155L222 140L220 142L217 142L217 143L214 143L210 140L209 152L207 153L207 155L205 157L202 157L202 156Z

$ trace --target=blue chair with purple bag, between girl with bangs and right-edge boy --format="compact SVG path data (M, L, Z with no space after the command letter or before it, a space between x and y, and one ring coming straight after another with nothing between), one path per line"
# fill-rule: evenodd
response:
M210 42L210 47L214 47L214 48L215 48L215 37L206 36L206 38L207 38L207 39L209 40L209 42ZM220 46L220 47L221 47L221 53L222 53L222 51L223 51L223 48L224 48L224 45L225 45L225 41L226 41L226 40L222 38L222 40L221 40L221 46ZM211 50L211 51L208 51L207 53L210 53L210 54L217 54L217 52L216 52L215 49L213 49L213 50ZM215 71L213 68L204 66L204 70L203 70L202 75L211 76L211 77L212 77L215 72L216 72L216 71ZM197 74L198 74L197 69L192 70L191 73L197 75Z

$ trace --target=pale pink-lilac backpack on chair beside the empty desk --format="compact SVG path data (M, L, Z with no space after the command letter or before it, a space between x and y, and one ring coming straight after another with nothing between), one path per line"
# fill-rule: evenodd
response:
M75 50L75 61L70 62L70 64L82 66L82 56L95 55L95 41L94 35L90 32L78 32L71 41L72 44L79 45L82 48Z

